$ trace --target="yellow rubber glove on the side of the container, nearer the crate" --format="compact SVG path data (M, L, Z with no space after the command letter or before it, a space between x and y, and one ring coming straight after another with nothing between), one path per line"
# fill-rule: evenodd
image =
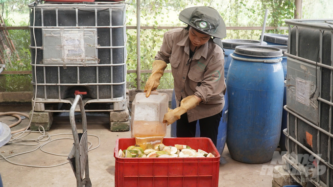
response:
M174 110L169 110L163 118L163 123L167 122L167 125L172 124L177 119L180 119L180 116L185 114L187 111L193 109L199 105L199 101L195 98L194 95L185 97L180 102L180 107L175 108Z

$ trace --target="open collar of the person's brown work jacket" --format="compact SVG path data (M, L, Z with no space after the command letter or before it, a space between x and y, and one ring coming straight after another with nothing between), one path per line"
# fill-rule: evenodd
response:
M208 46L209 42L211 42L211 39L206 42L206 44L202 45L199 50L195 51L193 60L199 60L202 57L207 59L207 52L208 52ZM187 30L187 35L177 43L178 46L184 46L184 52L188 55L190 55L190 37L189 37L189 31Z

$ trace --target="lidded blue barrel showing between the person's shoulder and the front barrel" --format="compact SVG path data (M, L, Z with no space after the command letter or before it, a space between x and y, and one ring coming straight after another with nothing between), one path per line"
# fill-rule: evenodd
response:
M260 41L258 40L242 40L242 39L231 39L222 40L224 54L224 78L227 78L228 70L231 62L231 56L237 46L259 46ZM263 46L267 45L266 42L262 43Z

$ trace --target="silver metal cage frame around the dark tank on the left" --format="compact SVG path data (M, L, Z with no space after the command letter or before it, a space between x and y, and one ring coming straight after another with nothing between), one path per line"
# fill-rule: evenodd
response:
M92 63L87 63L87 64L69 64L66 65L66 67L77 67L77 83L76 84L65 84L65 83L60 83L60 68L64 67L64 64L33 64L32 62L30 65L32 68L36 67L43 67L43 73L44 73L44 83L35 83L33 80L31 81L31 84L36 88L37 86L44 86L44 96L45 98L35 98L35 92L34 96L32 98L32 103L35 102L35 111L45 111L45 112L69 112L69 110L46 110L44 104L52 104L52 103L69 103L73 104L74 98L66 98L62 99L60 96L60 87L61 86L96 86L97 87L97 98L96 99L83 99L84 105L88 103L112 103L113 109L97 109L97 110L86 110L86 112L111 112L111 111L120 111L124 110L127 107L126 104L126 42L127 42L127 37L126 37L126 3L123 2L87 2L87 4L80 3L80 4L61 4L61 3L46 3L46 4L34 4L33 2L28 4L28 7L30 8L30 14L35 14L36 9L41 9L41 17L42 17L42 26L35 26L35 25L29 25L29 28L31 30L35 30L35 28L39 29L52 29L52 28L60 28L60 29L97 29L97 28L110 28L110 46L99 46L96 45L95 48L97 49L110 49L111 52L111 60L109 64L92 64ZM56 26L44 26L44 21L43 21L43 9L45 8L55 8L56 11ZM75 15L76 15L76 26L58 26L58 8L75 8ZM95 26L78 26L78 9L95 9ZM110 11L110 25L108 26L97 26L97 9L98 8L108 8ZM113 26L112 25L112 9L113 8L121 8L123 10L123 23L121 25ZM122 46L112 46L112 28L122 28L123 29L123 45ZM34 36L35 39L35 36ZM34 43L34 46L32 44L29 46L32 49L35 50L42 50L42 46L37 46L36 42ZM123 62L120 64L113 64L113 58L112 58L112 52L114 48L122 48L123 49ZM98 52L97 52L97 58L98 58ZM113 67L116 66L123 66L123 81L120 83L114 83L113 81ZM57 67L58 69L58 83L46 83L46 67ZM96 82L95 83L80 83L79 79L79 69L81 67L96 67ZM110 68L111 69L111 82L110 83L99 83L98 82L98 68ZM36 71L35 74L33 73L33 76L36 76ZM110 85L111 86L111 98L107 99L100 99L99 98L99 91L98 91L98 86L101 85ZM114 97L113 93L113 86L115 85L124 85L123 89L123 94L120 97ZM47 96L47 91L46 87L47 86L58 86L58 93L59 97L57 99L48 99Z

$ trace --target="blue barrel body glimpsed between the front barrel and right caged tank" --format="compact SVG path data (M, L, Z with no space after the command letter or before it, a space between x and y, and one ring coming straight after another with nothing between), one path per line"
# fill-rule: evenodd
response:
M283 68L283 73L284 73L284 77L286 79L286 76L287 76L287 57L285 56L285 52L287 51L287 46L272 46L272 45L269 45L268 47L276 47L276 48L279 48L282 50L282 61L281 61L281 64L282 64L282 68ZM286 87L284 89L284 94L283 94L283 106L286 105ZM287 128L287 111L285 111L285 109L282 109L283 112L282 112L282 124L281 124L281 136L280 136L280 142L279 142L279 145L280 145L280 148L281 148L281 151L286 151L286 147L285 147L285 134L283 133L283 130L285 128Z

